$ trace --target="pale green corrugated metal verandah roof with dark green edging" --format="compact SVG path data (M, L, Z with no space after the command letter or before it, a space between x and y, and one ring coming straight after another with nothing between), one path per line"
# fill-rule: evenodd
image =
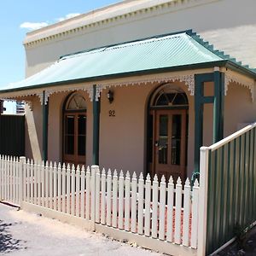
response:
M9 84L0 91L22 90L53 84L67 84L84 80L125 76L158 70L176 70L186 67L233 61L229 55L216 51L191 31L156 36L134 42L90 49L62 56L50 67L28 79ZM202 65L201 65L202 64ZM248 67L242 67L248 69Z

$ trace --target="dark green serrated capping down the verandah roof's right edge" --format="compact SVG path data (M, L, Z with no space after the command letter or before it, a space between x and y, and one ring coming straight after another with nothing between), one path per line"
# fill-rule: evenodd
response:
M243 64L241 61L237 61L235 57L226 55L222 50L214 49L213 44L210 44L208 41L205 41L203 38L201 38L201 36L198 33L194 32L192 29L187 30L186 33L191 38L194 38L196 42L198 42L199 44L203 45L205 48L210 50L213 54L218 55L220 58L224 59L225 61L231 61L234 64L247 69L247 71L250 71L256 74L256 68L250 67L247 64Z

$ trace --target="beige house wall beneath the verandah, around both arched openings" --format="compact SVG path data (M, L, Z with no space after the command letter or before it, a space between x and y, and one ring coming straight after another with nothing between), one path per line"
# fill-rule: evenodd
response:
M194 168L195 102L187 85L173 83L188 96L189 142L188 176ZM159 84L144 84L113 87L114 101L109 103L107 90L102 90L100 113L100 166L130 172L144 172L146 160L146 119L148 98ZM213 83L205 84L205 96L212 95ZM92 102L88 93L80 91L87 102L86 164L92 160ZM49 160L62 160L62 109L70 92L61 92L49 97ZM28 108L26 106L26 108ZM110 117L109 111L115 111ZM245 114L246 113L246 114ZM203 144L212 144L213 104L204 106ZM252 102L249 89L230 84L224 96L224 137L239 129L241 123L252 123L256 119L256 104ZM38 97L32 101L32 111L26 109L26 156L41 160L42 154L42 106Z

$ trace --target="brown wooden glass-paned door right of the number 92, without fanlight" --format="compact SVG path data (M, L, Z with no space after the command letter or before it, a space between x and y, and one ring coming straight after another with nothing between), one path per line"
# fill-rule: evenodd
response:
M155 110L154 173L186 178L187 110Z

